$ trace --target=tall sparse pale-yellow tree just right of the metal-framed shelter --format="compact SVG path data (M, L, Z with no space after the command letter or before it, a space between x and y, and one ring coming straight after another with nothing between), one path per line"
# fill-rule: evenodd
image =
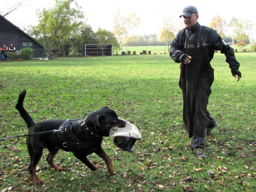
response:
M127 49L127 39L130 30L135 29L140 24L140 18L137 17L135 13L130 13L129 15L121 16L121 12L118 11L114 15L114 33L116 34L117 38L119 39L119 44L121 47L121 41L124 38L126 48Z

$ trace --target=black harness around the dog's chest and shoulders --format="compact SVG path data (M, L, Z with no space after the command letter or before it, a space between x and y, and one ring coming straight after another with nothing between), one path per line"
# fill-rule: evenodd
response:
M73 133L73 128L84 127L85 130L85 137L95 137L95 140L100 140L100 136L96 130L90 130L85 123L85 118L83 119L68 119L64 123L62 123L57 132L59 140L63 143L63 147L66 151L70 152L77 152L84 150L86 148L91 148L95 145L95 142L82 142L79 140L76 135ZM94 141L95 141L94 140Z

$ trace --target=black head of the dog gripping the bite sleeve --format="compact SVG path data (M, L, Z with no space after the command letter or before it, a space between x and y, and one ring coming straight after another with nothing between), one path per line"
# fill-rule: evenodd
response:
M98 111L90 113L86 117L86 124L89 128L95 128L99 135L109 136L111 128L123 128L126 126L126 121L119 119L115 111L108 107L103 107Z

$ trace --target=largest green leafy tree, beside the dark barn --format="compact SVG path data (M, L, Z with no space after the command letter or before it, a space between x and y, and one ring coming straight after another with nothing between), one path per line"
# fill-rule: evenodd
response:
M41 38L43 45L48 48L48 56L52 55L52 49L64 36L76 31L82 24L84 14L80 9L75 0L55 0L55 7L37 10L39 24L34 27L33 35Z

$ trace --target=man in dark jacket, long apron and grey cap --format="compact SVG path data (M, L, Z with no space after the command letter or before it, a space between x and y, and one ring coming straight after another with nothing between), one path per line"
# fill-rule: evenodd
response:
M170 56L180 64L179 86L183 94L183 123L189 137L191 149L198 158L205 158L204 135L210 134L216 122L207 111L208 99L213 83L213 68L210 61L214 50L225 54L232 75L240 80L239 63L234 50L213 29L201 26L197 8L187 6L180 17L186 27L181 30L171 44Z

